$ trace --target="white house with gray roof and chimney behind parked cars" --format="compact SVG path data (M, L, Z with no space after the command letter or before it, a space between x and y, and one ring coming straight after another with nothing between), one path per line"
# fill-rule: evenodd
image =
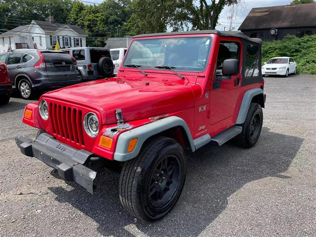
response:
M30 25L19 26L0 35L0 53L9 48L54 48L58 41L61 48L85 47L87 34L78 26L33 20Z

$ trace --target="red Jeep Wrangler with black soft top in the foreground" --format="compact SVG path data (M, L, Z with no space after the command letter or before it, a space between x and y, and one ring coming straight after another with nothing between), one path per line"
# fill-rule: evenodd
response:
M261 40L240 32L197 31L133 38L118 76L41 96L23 122L35 141L21 152L93 192L96 162L122 164L119 198L146 221L175 205L186 177L185 151L237 137L257 142L265 95ZM210 147L211 148L211 147Z

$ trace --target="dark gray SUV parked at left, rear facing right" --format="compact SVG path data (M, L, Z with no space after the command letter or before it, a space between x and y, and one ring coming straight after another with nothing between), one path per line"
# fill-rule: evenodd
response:
M76 59L63 51L16 49L1 53L0 61L7 65L13 89L24 99L82 81Z

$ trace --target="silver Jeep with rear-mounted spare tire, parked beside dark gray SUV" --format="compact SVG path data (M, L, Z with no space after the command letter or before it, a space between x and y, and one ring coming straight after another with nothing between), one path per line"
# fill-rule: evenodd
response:
M109 49L78 47L62 50L76 58L81 79L95 80L113 76L114 65Z

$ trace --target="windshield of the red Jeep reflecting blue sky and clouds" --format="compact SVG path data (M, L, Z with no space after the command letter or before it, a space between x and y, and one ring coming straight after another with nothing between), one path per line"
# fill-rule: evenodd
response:
M177 71L202 72L208 62L211 44L211 37L134 40L124 66L137 65L148 69L168 66Z

